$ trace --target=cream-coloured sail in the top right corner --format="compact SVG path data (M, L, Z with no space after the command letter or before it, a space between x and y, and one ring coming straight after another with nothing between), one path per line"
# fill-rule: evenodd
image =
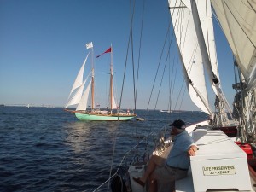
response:
M256 79L256 3L253 0L211 0L248 87Z

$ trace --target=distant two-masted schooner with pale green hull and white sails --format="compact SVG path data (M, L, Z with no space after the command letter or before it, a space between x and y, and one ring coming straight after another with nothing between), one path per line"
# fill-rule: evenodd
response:
M112 46L106 50L105 53L111 53L111 64L110 64L110 91L109 91L109 102L110 106L106 110L101 110L99 108L95 108L95 93L94 93L94 55L93 55L93 44L92 42L86 44L87 49L90 49L90 53L86 56L82 67L79 70L77 78L74 81L73 88L68 96L68 102L65 109L69 112L75 113L75 116L79 120L91 121L91 120L111 120L111 121L124 121L130 120L136 117L135 113L125 113L120 111L118 105L115 102L115 96L113 94L113 49ZM84 79L84 67L88 56L91 54L92 60L92 68L90 74ZM98 55L97 57L99 57ZM84 90L84 86L87 83L87 80L91 76L90 82L86 85L86 89ZM91 96L91 104L90 108L87 108L88 98ZM77 105L75 111L68 110L69 106ZM97 106L96 106L97 107ZM115 110L115 111L114 111Z

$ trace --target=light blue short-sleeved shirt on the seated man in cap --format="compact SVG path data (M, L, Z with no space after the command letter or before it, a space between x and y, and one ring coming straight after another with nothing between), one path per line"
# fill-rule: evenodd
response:
M187 151L193 143L187 131L179 133L175 137L171 152L166 159L167 166L188 169L190 166L190 158Z

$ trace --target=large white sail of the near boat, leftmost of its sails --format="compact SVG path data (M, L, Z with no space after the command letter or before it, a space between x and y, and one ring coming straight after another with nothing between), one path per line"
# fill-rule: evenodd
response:
M202 111L212 113L207 98L202 55L195 33L190 1L169 0L169 5L189 96Z

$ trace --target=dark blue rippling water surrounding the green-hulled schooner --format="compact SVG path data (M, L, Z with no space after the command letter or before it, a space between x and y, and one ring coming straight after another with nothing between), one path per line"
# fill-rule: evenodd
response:
M80 122L62 108L0 108L0 191L93 191L140 138L201 112L137 110L145 121Z

